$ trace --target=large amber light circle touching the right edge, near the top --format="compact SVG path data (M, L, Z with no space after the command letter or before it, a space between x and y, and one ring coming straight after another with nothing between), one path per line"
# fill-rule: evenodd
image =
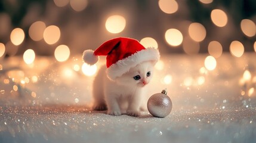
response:
M240 27L242 32L248 37L252 37L256 33L256 26L252 20L243 19L240 23Z

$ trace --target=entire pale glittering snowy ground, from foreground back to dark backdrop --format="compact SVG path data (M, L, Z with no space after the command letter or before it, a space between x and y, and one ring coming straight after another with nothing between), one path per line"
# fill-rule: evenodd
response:
M0 59L0 142L256 142L255 53L224 54L213 71L206 56L168 55L156 65L145 96L168 89L165 118L91 111L93 76L73 70L76 58Z

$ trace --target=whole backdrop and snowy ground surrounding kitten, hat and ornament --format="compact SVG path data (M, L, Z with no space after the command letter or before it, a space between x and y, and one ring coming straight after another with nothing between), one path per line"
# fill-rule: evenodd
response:
M0 142L256 142L255 23L255 0L0 0ZM159 49L165 119L88 108L106 60L82 52L119 36Z

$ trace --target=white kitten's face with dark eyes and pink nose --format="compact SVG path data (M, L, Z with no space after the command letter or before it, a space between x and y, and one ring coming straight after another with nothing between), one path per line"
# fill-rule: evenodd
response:
M152 61L140 63L136 67L131 68L128 73L118 77L116 82L127 86L143 87L152 79L153 66L154 63Z

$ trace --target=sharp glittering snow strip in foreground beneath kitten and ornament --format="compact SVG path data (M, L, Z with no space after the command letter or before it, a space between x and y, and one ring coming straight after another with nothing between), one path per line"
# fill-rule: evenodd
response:
M255 142L256 110L109 116L86 107L2 108L1 142Z

